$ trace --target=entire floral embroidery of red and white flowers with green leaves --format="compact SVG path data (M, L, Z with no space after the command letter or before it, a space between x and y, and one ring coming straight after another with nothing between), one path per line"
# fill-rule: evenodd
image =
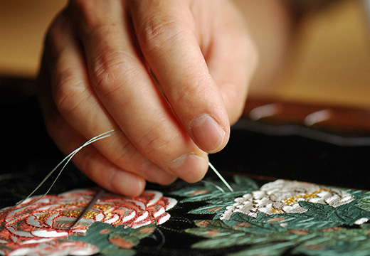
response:
M88 203L95 190L50 196L57 198L54 201L47 196L43 199L48 202L38 207L0 212L0 253L370 255L370 192L297 181L255 182L241 176L233 176L231 186L233 192L215 178L177 182L161 187L163 194L146 191L138 198L107 194L73 230L66 227L82 210L79 203ZM245 195L254 198L251 210L240 210L248 201ZM56 202L63 196L60 206ZM41 213L40 208L45 210ZM225 213L230 213L228 218ZM42 237L45 234L50 237Z

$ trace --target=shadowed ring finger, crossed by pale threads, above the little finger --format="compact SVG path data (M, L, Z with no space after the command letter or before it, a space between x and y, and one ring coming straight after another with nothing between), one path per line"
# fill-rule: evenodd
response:
M88 139L112 129L120 130L120 127L107 112L90 84L84 53L73 36L73 29L64 27L68 26L68 23L63 23L63 26L61 23L63 17L54 23L48 33L39 79L42 80L39 99L49 134L60 149L69 154ZM56 119L59 121L56 122ZM68 126L68 129L65 128ZM72 134L68 134L69 131ZM72 139L74 133L79 134L80 144ZM102 161L93 158L105 159L104 162L109 163L107 166L115 166L115 169L124 171L125 176L130 173L132 176L160 184L168 184L176 179L174 174L169 174L149 161L125 134L117 134L95 142L92 146L99 154L94 154L89 161L98 161L99 166L83 164L82 161L79 166L85 174L106 188L109 187L108 180L99 178L98 174L93 176L93 171L104 172L107 168L102 168Z

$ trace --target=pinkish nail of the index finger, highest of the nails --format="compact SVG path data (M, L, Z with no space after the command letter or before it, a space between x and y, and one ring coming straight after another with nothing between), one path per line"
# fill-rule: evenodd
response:
M198 146L208 153L221 149L226 132L220 124L208 114L194 119L190 126Z

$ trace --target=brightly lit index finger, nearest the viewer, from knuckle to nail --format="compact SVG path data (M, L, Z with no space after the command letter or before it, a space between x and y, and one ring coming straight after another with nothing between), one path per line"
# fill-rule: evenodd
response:
M176 118L200 149L221 150L230 132L228 114L195 36L189 1L139 1L130 7L145 61Z

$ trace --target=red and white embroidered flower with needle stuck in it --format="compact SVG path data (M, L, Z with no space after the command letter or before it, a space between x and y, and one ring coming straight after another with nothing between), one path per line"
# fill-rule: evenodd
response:
M3 252L10 252L15 248L21 250L20 248L23 247L24 250L31 250L32 247L36 251L42 250L44 253L41 255L48 255L47 251L51 246L61 250L57 255L68 255L71 250L74 250L73 246L76 248L90 246L89 250L84 250L93 254L97 252L96 247L88 243L70 241L68 235L86 233L90 225L96 221L114 226L123 225L125 228L139 228L151 223L162 224L170 218L166 210L177 203L175 199L166 198L158 191L144 191L142 196L135 198L106 193L85 214L78 225L70 228L95 193L96 189L91 188L70 191L58 196L45 196L29 206L20 208L36 200L36 198L29 198L14 210L12 208L1 210L0 248L3 248ZM60 246L60 242L68 245L68 250L65 246ZM65 254L65 252L68 253Z

